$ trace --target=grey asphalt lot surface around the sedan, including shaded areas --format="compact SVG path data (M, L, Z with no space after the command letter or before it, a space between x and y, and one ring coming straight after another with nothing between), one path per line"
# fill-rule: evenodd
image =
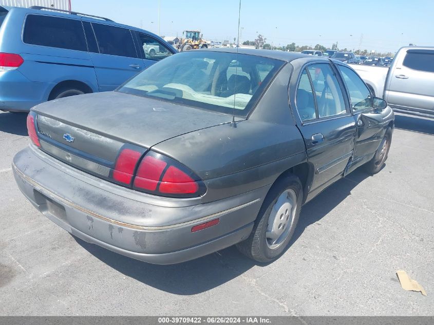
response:
M0 113L0 315L434 315L434 120L397 116L385 168L306 204L270 264L230 247L152 265L76 239L18 190L28 144L25 114Z

